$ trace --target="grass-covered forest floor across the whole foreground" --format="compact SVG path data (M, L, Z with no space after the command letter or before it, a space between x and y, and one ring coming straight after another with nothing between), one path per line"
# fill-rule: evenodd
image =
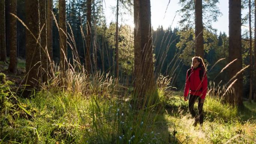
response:
M11 90L19 86L24 72L24 64L19 64L19 73L13 75L7 72L7 64L0 63L0 73L6 74ZM158 104L158 108L133 112L133 105L127 102L128 94L113 96L115 86L111 79L86 85L90 92L76 92L78 88L74 85L66 91L46 86L29 98L15 96L1 85L0 144L256 143L254 102L244 101L244 107L238 108L207 96L204 125L200 127L192 126L182 92L164 95L159 91L162 108ZM197 104L194 108L197 109Z

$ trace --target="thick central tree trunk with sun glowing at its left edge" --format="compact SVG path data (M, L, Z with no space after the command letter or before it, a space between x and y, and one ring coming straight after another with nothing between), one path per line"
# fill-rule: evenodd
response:
M141 108L143 99L156 90L150 0L134 0L134 96Z

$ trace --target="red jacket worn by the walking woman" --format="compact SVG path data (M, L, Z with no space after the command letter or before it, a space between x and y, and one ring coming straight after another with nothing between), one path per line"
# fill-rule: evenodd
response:
M204 74L204 77L202 78L202 81L199 76L199 70L201 70L200 67L198 68L193 68L191 67L191 72L190 72L190 77L188 76L188 71L187 71L187 76L186 76L186 85L185 85L185 90L184 90L184 96L188 96L189 89L191 95L202 95L201 98L205 99L205 95L207 93L207 76Z

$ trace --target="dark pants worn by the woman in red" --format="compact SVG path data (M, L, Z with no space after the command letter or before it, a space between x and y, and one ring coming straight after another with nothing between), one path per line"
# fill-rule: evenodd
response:
M189 95L189 112L192 115L192 117L196 117L197 114L194 110L194 104L195 104L196 99L198 99L199 123L200 123L200 125L202 125L202 123L204 122L204 114L203 114L203 110L202 110L204 103L201 103L201 98L199 96Z

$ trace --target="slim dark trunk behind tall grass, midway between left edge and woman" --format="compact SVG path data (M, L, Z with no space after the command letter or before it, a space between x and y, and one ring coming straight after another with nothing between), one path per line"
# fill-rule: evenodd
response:
M85 56L85 62L86 62L86 70L88 73L91 71L91 58L90 58L90 49L91 49L91 0L87 0L87 43L86 43L86 56Z

